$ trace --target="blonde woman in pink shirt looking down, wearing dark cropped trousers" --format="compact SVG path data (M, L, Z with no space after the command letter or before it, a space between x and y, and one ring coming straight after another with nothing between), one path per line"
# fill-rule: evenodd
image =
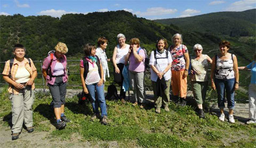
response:
M49 87L52 95L57 129L65 128L66 122L70 121L64 114L67 92L66 85L68 80L67 57L65 56L67 52L67 45L59 42L55 46L55 52L49 54L44 59L42 67L42 73L46 80L46 85Z

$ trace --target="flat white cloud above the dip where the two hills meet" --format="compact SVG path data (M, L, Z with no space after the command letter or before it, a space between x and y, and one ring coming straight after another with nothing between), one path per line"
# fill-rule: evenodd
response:
M156 15L173 14L177 11L178 11L177 9L165 9L163 7L151 7L149 9L147 9L146 12L137 11L137 12L135 12L135 14L139 15L141 17L144 17L144 16L156 16Z

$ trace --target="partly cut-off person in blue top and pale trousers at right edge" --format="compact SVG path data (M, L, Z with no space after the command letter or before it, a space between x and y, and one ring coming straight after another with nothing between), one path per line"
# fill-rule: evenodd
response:
M254 54L254 61L246 67L238 67L239 70L251 69L251 83L249 85L249 121L246 124L256 124L256 53Z

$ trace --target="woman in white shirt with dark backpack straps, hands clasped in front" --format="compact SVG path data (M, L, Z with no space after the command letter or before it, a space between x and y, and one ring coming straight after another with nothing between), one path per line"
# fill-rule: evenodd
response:
M150 55L150 78L153 86L156 113L161 113L160 108L162 105L165 111L170 111L168 104L170 102L172 57L171 53L166 50L167 48L167 40L164 38L159 39L156 42L156 50L152 51ZM165 89L162 86L165 86Z

